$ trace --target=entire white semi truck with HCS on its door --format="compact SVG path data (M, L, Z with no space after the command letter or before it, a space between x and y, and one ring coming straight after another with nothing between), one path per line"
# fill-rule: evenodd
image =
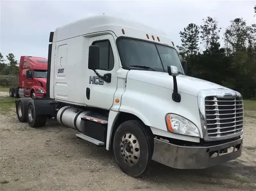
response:
M16 101L20 122L55 117L113 149L133 177L151 160L198 169L241 155L241 94L186 75L164 32L99 15L57 28L49 42L47 94Z

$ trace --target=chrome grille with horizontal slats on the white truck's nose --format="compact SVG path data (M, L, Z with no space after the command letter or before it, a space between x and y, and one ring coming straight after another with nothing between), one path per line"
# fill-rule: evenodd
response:
M209 137L222 137L243 130L243 100L240 97L205 98L207 134Z

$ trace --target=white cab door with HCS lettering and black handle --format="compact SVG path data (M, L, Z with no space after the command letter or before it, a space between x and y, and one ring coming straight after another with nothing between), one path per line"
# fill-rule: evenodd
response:
M90 37L89 45L99 46L99 69L96 71L100 75L110 73L111 82L104 82L104 80L99 78L93 70L87 69L85 86L86 105L103 109L110 109L113 105L114 94L117 88L116 73L119 68L119 59L115 40L110 34L100 35L96 37ZM88 64L86 67L88 68Z

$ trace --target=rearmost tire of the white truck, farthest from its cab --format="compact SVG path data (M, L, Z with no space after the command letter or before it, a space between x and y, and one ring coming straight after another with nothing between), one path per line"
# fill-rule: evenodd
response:
M27 105L30 100L30 97L23 97L17 101L16 114L20 122L27 122Z

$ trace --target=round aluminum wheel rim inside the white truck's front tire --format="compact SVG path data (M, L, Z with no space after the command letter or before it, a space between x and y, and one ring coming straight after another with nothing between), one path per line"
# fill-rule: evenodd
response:
M140 144L132 133L126 132L123 134L120 143L120 152L124 162L129 166L135 165L140 159Z

